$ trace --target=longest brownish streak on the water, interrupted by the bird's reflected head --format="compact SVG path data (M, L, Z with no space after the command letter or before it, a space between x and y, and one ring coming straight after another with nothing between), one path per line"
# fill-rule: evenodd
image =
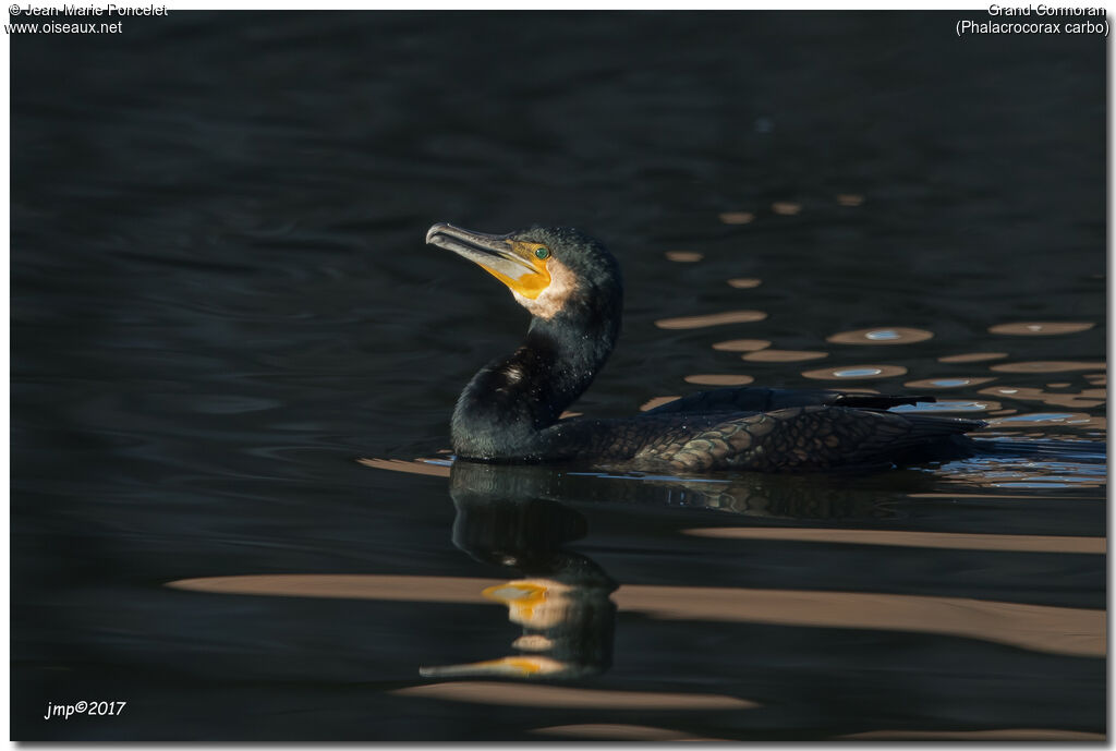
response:
M484 601L481 590L506 584L466 577L287 574L181 579L166 586L229 595L477 604ZM1106 613L1086 608L927 595L647 585L622 586L613 600L620 610L672 620L910 630L1056 654L1106 653Z

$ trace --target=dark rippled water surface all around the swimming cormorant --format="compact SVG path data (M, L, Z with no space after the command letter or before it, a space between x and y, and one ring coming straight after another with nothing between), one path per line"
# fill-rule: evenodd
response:
M13 36L13 736L1105 733L1104 42L955 21ZM451 472L526 314L435 221L613 248L625 335L578 412L751 377L932 393L1011 443ZM78 701L127 705L44 719Z

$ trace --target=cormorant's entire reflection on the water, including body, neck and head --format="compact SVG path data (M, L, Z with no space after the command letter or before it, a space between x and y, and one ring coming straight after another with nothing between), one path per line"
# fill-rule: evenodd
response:
M386 468L375 460L365 463ZM853 493L817 478L743 475L711 481L468 461L452 464L450 494L456 509L453 543L481 562L519 572L487 587L482 595L504 605L508 619L523 630L511 643L518 654L424 666L420 668L424 677L575 678L612 666L616 605L609 596L618 585L595 561L566 549L588 532L585 517L566 501L684 506L760 518L889 514L882 500L886 493L882 498Z

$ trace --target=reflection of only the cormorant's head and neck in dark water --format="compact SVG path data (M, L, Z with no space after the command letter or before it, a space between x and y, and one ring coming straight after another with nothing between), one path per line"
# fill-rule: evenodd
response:
M519 654L461 665L422 667L426 677L581 677L613 659L616 582L565 545L585 536L585 518L545 495L560 475L537 466L455 462L453 543L479 561L521 576L483 590L522 627Z

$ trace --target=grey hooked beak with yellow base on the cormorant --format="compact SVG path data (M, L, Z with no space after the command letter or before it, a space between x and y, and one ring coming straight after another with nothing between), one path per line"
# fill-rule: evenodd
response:
M507 234L485 234L453 224L434 224L426 232L426 244L452 250L468 258L507 285L511 291L535 299L550 285L546 258L536 251L537 242L512 240Z

